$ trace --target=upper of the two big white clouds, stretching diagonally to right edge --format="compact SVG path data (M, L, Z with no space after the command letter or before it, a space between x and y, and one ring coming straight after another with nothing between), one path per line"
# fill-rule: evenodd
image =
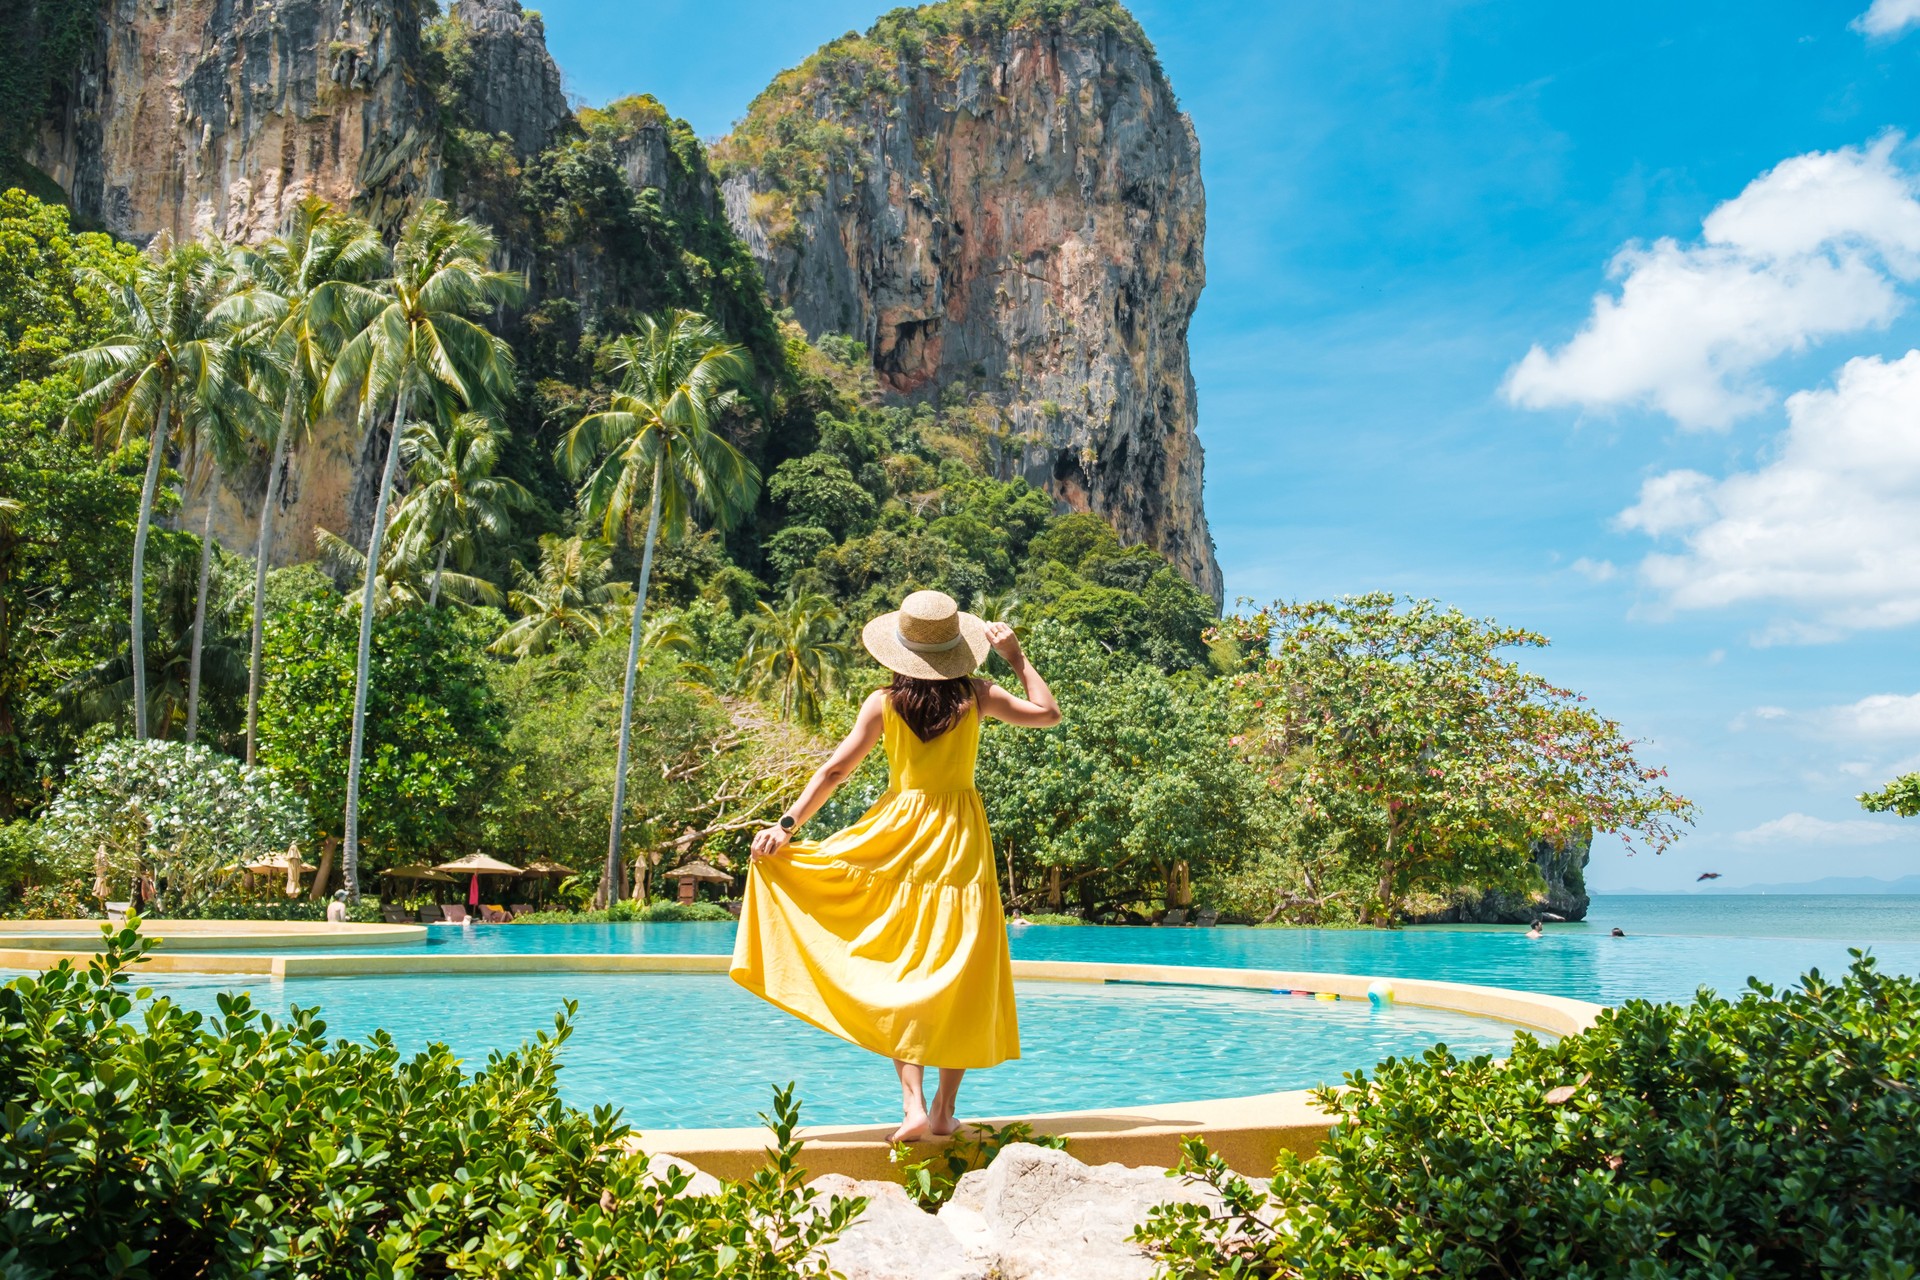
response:
M1910 0L1920 4L1920 0ZM1920 182L1901 138L1809 152L1763 173L1701 223L1695 244L1628 244L1557 351L1534 345L1501 391L1524 409L1659 409L1724 428L1772 403L1768 361L1887 324L1920 276Z

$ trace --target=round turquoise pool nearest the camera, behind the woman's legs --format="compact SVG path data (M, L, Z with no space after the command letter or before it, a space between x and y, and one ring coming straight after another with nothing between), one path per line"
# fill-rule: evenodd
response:
M207 1013L219 992L242 986L273 1013L317 1004L330 1036L363 1040L384 1027L401 1050L442 1042L470 1067L488 1050L551 1029L561 1002L578 1000L561 1092L580 1105L616 1103L639 1128L753 1125L770 1084L787 1080L799 1082L808 1123L868 1123L889 1115L899 1088L885 1061L780 1013L724 975L154 975L142 983ZM972 1115L1308 1088L1442 1040L1465 1054L1501 1054L1513 1042L1513 1027L1490 1019L1267 990L1021 983L1018 998L1023 1055L970 1077Z

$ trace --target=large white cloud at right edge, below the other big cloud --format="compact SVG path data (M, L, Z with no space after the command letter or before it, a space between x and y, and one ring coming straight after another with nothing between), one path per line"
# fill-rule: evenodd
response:
M1847 361L1788 397L1770 462L1653 476L1620 524L1680 541L1640 564L1670 608L1786 606L1761 643L1920 620L1920 351Z

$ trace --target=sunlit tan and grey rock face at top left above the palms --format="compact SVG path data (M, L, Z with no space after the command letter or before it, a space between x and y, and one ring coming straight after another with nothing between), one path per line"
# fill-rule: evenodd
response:
M27 159L121 236L273 234L319 194L396 221L440 136L407 0L109 0Z

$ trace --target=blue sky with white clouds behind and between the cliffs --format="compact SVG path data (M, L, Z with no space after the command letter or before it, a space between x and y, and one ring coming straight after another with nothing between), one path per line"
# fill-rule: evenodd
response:
M1920 766L1920 0L1866 6L1133 6L1202 146L1229 595L1553 637L1699 802L1596 889L1920 871L1851 798ZM568 92L718 136L881 8L543 13Z

